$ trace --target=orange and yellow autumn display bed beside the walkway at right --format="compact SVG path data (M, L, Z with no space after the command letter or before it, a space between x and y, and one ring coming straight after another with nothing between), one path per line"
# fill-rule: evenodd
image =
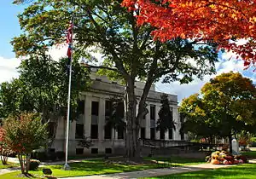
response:
M206 157L207 162L213 165L238 165L247 163L247 157L242 155L232 155L226 151L216 151Z

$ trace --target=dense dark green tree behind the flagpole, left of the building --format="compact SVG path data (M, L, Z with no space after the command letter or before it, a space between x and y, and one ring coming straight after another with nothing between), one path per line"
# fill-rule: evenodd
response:
M67 59L52 61L49 56L31 56L21 61L20 77L0 85L1 118L22 112L42 113L43 123L51 120L54 129L57 120L67 114L68 73ZM73 62L71 109L72 119L78 114L79 92L87 90L90 77L87 69ZM55 132L50 136L55 138Z

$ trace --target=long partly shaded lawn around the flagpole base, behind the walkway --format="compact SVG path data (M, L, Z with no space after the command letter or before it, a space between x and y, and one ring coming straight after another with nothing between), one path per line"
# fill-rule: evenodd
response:
M145 160L155 160L157 158L147 158ZM163 158L160 158L162 160ZM166 159L168 160L168 159ZM199 159L183 159L180 157L172 157L172 162L175 162L175 165L192 165L203 162ZM120 164L109 164L104 160L84 160L79 163L70 164L72 170L61 170L63 165L48 165L44 168L49 168L53 171L53 176L56 177L67 177L67 176L90 176L90 175L99 175L99 174L110 174L110 173L120 173L134 170L148 170L159 167L159 165L154 163L146 163L143 165L120 165ZM42 168L39 168L36 171L30 171L30 173L35 176L35 178L42 178ZM16 178L15 176L19 175L20 171L15 171L9 174L1 175L0 178ZM38 176L38 177L37 177ZM22 177L17 177L22 179Z

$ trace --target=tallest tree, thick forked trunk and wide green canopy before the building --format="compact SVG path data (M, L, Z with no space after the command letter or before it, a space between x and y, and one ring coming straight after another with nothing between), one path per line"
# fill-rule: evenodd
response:
M20 3L23 1L15 1ZM175 38L166 43L154 41L152 26L137 26L135 14L121 6L122 1L48 1L31 3L19 15L20 27L26 33L13 39L17 56L44 55L54 44L63 43L63 36L71 14L74 20L73 58L90 56L90 51L103 55L102 72L109 78L125 84L125 121L127 157L139 157L138 133L140 121L148 113L145 101L151 85L164 78L165 83L189 83L193 77L202 78L215 71L218 55L214 43L197 43ZM94 61L88 60L88 61ZM143 80L145 86L138 102L135 82Z

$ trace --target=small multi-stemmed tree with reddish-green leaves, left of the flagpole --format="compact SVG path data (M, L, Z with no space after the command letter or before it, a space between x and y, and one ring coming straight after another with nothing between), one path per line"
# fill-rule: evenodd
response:
M47 124L42 124L38 113L21 113L9 116L3 121L6 148L18 153L22 174L27 174L32 150L45 145L47 140ZM23 159L22 156L26 156Z

